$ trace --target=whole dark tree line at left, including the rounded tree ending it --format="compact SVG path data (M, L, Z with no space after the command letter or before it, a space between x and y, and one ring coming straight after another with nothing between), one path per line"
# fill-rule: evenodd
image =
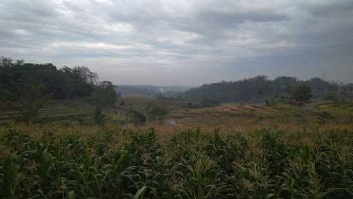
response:
M85 66L57 68L53 64L32 64L0 59L0 102L21 113L21 120L34 117L46 99L85 98L92 104L114 104L117 94L111 82Z

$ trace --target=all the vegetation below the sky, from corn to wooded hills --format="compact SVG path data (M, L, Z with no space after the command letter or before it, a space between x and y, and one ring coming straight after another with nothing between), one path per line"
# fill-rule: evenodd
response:
M83 66L0 72L0 198L353 198L349 85L259 76L127 97Z

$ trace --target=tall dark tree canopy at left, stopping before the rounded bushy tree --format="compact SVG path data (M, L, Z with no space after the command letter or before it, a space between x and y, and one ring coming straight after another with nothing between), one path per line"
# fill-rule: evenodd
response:
M96 73L83 66L58 70L52 64L30 64L4 57L0 60L0 90L3 94L21 95L28 84L36 84L43 86L43 95L53 98L85 97L92 93L97 78Z

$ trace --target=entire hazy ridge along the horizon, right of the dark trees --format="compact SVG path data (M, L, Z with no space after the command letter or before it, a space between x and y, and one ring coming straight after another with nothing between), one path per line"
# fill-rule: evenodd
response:
M289 97L290 91L298 84L306 84L311 88L312 99L326 99L330 95L342 95L350 98L353 93L352 84L328 82L321 78L300 80L296 77L281 76L268 79L265 75L241 79L234 82L217 82L191 86L150 86L150 85L117 85L117 93L121 95L140 95L160 97L161 99L180 99L202 101L212 99L216 102L265 102L273 97ZM345 96L345 94L347 96Z

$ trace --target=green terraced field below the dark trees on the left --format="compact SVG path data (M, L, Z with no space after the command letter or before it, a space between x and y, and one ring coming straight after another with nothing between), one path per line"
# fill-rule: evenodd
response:
M58 121L78 120L92 121L94 106L81 100L49 100L39 109L37 120ZM0 105L0 123L10 122L19 117L19 111L13 111L6 104Z

